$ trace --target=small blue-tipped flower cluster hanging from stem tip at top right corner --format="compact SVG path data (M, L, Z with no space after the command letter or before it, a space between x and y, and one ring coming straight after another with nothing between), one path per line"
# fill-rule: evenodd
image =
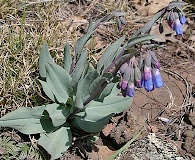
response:
M167 23L176 35L183 34L182 25L186 23L186 17L181 10L172 9L167 13Z

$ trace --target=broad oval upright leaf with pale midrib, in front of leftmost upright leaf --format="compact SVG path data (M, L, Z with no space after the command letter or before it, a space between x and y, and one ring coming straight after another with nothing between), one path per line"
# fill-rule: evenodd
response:
M56 64L46 64L46 82L59 103L66 103L69 93L72 91L71 77L65 69Z

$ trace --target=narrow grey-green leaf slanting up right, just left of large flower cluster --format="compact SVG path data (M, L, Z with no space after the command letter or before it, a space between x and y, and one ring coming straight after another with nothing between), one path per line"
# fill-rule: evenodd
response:
M121 37L105 50L97 64L97 70L99 73L103 73L103 71L112 63L114 58L117 56L115 53L123 43L124 39L125 39L124 36Z

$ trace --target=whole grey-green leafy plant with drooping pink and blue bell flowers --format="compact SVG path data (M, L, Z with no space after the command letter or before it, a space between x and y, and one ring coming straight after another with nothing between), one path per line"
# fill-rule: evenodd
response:
M40 134L38 144L51 155L51 159L59 158L71 146L75 132L101 131L111 116L129 109L135 87L152 91L163 86L160 63L152 44L148 43L155 36L148 33L153 24L166 15L169 26L177 35L182 34L181 26L186 18L181 6L185 4L171 2L127 42L122 36L107 47L95 65L88 62L86 45L96 28L112 18L117 20L121 30L122 25L126 25L125 13L113 12L95 23L90 20L86 34L74 45L74 54L70 53L70 45L66 43L63 66L54 63L48 45L44 43L39 56L39 81L52 103L10 112L0 118L0 126L27 135ZM162 30L160 24L159 31ZM137 55L140 55L139 61Z

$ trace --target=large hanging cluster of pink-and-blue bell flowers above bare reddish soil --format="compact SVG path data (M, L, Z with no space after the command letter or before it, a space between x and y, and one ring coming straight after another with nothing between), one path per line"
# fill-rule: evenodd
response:
M139 63L132 57L120 68L121 81L119 83L121 90L126 96L133 97L135 86L144 87L148 92L154 88L163 86L162 77L159 71L160 63L151 50L147 50L145 57L141 55Z

